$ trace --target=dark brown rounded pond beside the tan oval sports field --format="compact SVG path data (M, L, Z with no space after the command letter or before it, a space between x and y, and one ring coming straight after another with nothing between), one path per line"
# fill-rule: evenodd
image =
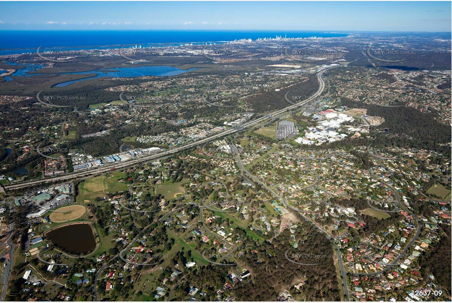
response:
M85 254L96 248L96 239L90 224L72 224L57 227L47 233L47 237L65 252Z

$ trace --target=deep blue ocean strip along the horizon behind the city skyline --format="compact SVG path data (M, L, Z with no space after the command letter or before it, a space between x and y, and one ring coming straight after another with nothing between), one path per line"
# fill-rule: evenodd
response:
M238 30L0 30L0 55L34 52L43 48L84 49L88 47L181 45L238 39L344 37L347 33L325 31L238 31Z

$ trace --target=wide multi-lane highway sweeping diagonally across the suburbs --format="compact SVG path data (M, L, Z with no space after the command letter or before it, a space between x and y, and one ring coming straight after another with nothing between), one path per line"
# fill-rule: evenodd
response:
M345 64L346 65L346 64ZM340 65L340 66L345 66L345 65ZM254 120L250 120L248 122L245 122L244 124L242 124L241 126L236 126L233 128L229 128L223 132L214 134L210 137L207 138L203 138L200 139L198 141L194 141L191 143L187 143L169 150L164 150L161 152L156 152L153 153L151 155L147 155L144 157L140 157L140 158L136 158L136 159L132 159L129 161L124 161L123 163L111 163L111 164L106 164L102 167L98 167L96 169L93 170L89 170L89 171L84 171L84 172L78 172L78 173L71 173L71 174L67 174L67 175L63 175L63 176L59 176L59 177L51 177L51 178L45 178L45 179L39 179L39 180L33 180L33 181L26 181L26 182L21 182L21 183L14 183L14 184L10 184L5 186L6 190L15 190L15 189L21 189L21 188L26 188L29 186L35 186L35 185L40 185L40 184L45 184L45 183L49 183L49 182L59 182L59 181L64 181L64 180L71 180L74 178L80 178L80 177L90 177L90 176L95 176L95 175L99 175L99 174L103 174L103 173L107 173L107 172L111 172L113 170L119 170L119 169L124 169L124 168L129 168L133 165L137 165L146 161L150 161L150 160L156 160L159 159L161 157L165 157L171 154L174 154L178 151L183 151L189 148L193 148L196 147L198 145L201 144L205 144L208 143L210 141L213 140L217 140L221 137L224 136L229 136L232 135L240 130L242 130L243 128L252 128L254 126L259 125L260 123L263 123L264 121L266 121L267 119L274 119L275 116L277 115L281 115L281 114L285 114L293 109L296 109L297 107L300 107L310 101L313 101L314 99L316 99L317 97L319 97L321 95L321 93L323 92L323 90L325 89L325 81L323 79L323 73L325 73L328 70L331 70L333 68L337 68L340 66L334 66L328 69L324 69L322 71L320 71L319 73L317 73L317 80L319 82L319 89L317 90L317 92L312 95L310 98L301 101L299 103L295 103L293 105L287 106L283 109L279 109L276 111L271 112L270 114L267 114L264 117L260 117Z

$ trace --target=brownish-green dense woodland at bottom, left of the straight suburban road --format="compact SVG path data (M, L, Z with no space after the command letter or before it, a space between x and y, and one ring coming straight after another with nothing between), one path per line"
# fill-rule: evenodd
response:
M300 225L302 233L306 235L304 252L326 255L335 253L329 241L319 235L316 227L310 223ZM246 260L248 270L253 273L253 279L251 283L240 284L236 289L240 300L274 301L279 292L289 290L295 281L306 278L306 284L300 288L304 300L316 301L323 298L327 301L339 301L339 283L336 275L332 274L335 273L333 259L327 258L327 262L316 266L293 264L284 255L289 248L289 242L291 242L290 233L286 230L271 243L264 242L257 248L259 263ZM268 281L271 281L271 284Z

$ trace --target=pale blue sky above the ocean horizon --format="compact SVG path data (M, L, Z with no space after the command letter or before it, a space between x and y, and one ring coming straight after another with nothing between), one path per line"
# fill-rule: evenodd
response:
M451 31L451 1L19 1L0 11L0 29Z

